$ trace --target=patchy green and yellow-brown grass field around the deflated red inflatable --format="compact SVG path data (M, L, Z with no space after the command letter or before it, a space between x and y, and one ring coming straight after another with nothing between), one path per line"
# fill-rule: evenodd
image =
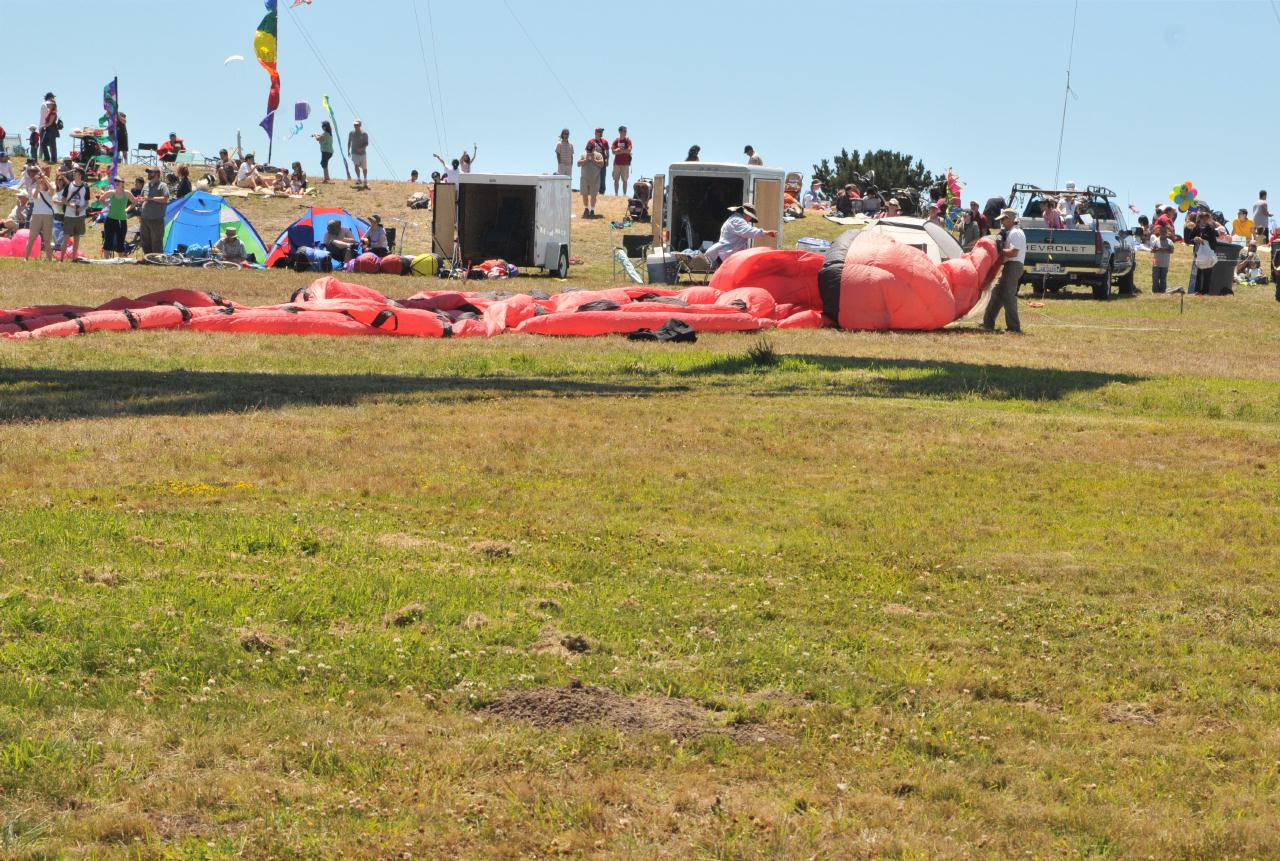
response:
M307 280L0 261L0 306ZM1274 858L1272 289L0 342L0 857Z

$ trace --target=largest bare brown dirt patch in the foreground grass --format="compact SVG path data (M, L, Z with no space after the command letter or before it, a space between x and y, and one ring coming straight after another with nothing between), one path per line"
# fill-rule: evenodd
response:
M581 684L507 691L489 704L485 711L543 729L598 723L625 732L657 732L675 738L731 736L742 742L767 742L777 737L774 731L759 724L732 725L723 715L691 700L623 696Z

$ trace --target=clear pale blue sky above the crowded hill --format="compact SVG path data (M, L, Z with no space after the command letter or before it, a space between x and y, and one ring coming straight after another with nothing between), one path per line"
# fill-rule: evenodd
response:
M581 148L596 124L612 134L621 123L645 174L691 143L727 161L751 143L805 173L841 147L902 150L955 168L978 200L1053 179L1073 0L416 0L433 82L439 65L434 101L413 0L314 0L292 14L292 0L280 3L289 116L276 124L275 161L308 171L307 136L329 92L342 130L358 111L380 145L375 179L429 173L445 138L454 155L477 143L477 170L549 170L562 127ZM1280 189L1268 164L1280 119L1263 90L1280 45L1276 5L1080 0L1062 179L1110 186L1144 211L1187 179L1220 209ZM77 59L49 61L64 41L56 29L8 40L0 124L24 129L46 90L69 124L93 122L118 74L134 143L173 129L212 154L242 129L265 154L268 84L252 54L261 0L175 8L60 0L61 20L84 23L67 37ZM118 37L100 33L86 50L104 26ZM232 54L248 59L224 65ZM315 113L289 141L297 100Z

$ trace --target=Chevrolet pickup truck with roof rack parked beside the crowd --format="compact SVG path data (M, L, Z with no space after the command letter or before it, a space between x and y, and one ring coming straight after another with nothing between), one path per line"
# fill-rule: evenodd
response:
M1057 206L1057 201L1065 205ZM1048 226L1046 202L1062 211L1064 226ZM1062 191L1019 183L1009 205L1023 214L1018 221L1027 234L1021 280L1037 294L1059 293L1069 284L1088 284L1098 299L1111 298L1112 284L1121 294L1134 292L1133 238L1115 203L1115 192L1101 186L1080 192L1070 183Z

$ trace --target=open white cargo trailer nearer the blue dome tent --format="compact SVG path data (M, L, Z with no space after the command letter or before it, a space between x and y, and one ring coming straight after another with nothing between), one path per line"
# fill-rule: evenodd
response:
M474 265L506 260L568 276L570 178L552 174L461 174L435 186L433 251Z

